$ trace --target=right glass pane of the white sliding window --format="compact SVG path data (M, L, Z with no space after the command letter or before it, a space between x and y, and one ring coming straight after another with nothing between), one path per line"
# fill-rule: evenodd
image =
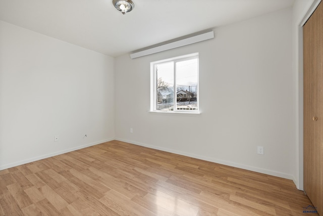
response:
M197 59L176 63L177 110L197 110Z

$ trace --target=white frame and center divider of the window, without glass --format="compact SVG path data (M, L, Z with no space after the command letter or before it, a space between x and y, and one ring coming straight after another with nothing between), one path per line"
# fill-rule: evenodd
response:
M176 91L176 62L181 62L190 59L197 59L197 109L196 110L178 110L177 109L177 91ZM174 62L174 110L160 111L156 109L157 106L157 77L155 65L161 63ZM199 113L199 55L198 53L192 53L189 55L178 56L174 58L164 59L160 61L150 62L150 112L162 112L162 113Z

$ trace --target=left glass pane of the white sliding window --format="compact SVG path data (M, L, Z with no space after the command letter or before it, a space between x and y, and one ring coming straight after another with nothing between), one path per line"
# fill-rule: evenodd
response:
M174 62L157 64L156 110L174 110Z

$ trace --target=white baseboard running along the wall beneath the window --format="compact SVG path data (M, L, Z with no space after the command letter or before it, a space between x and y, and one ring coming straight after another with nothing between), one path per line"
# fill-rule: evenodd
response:
M237 167L237 168L247 169L247 170L250 170L250 171L260 172L261 174L266 174L266 175L276 176L276 177L280 177L280 178L284 178L284 179L289 179L289 180L292 180L294 183L296 183L296 180L292 175L286 174L284 172L279 172L279 171L270 170L270 169L264 169L264 168L260 168L260 167L256 167L256 166L249 166L249 165L235 163L235 162L227 161L227 160L221 160L221 159L217 159L217 158L205 157L205 156L202 156L202 155L191 154L191 153L188 153L188 152L182 152L182 151L163 148L163 147L159 147L159 146L152 146L152 145L139 143L139 142L134 142L134 141L131 141L131 140L125 140L125 139L121 139L121 138L115 138L115 140L126 142L126 143L131 143L131 144L134 144L134 145L143 146L143 147L147 147L147 148L151 148L151 149L156 149L156 150L166 151L166 152L170 152L170 153L174 153L174 154L193 157L193 158L196 158L196 159L201 159L201 160L210 161L210 162L214 162L214 163L220 163L220 164L223 164L223 165L228 165L228 166L233 166L233 167Z

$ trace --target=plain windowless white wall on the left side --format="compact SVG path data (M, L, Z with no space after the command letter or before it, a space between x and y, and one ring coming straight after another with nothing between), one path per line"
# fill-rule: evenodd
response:
M114 107L113 58L0 21L0 169L112 140Z

